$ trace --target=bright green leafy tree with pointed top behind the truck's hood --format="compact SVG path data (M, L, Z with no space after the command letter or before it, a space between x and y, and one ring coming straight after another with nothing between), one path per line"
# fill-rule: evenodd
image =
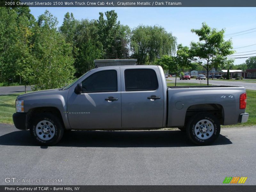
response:
M45 11L34 29L32 49L34 90L59 88L73 79L72 46L57 32L57 19Z

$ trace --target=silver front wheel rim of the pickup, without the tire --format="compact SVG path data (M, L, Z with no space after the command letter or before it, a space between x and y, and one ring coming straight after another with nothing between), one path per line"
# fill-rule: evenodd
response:
M41 140L50 140L55 134L55 127L52 122L43 120L36 125L36 135Z

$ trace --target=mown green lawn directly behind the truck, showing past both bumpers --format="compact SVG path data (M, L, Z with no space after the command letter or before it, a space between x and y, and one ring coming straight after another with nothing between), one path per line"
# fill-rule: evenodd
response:
M168 83L168 86L174 86L174 83ZM178 86L199 86L196 83L177 83ZM242 127L256 125L256 91L246 90L247 92L247 105L246 112L249 113L249 119L246 123L226 125L223 127ZM13 124L12 114L15 113L15 100L20 94L0 95L0 123Z

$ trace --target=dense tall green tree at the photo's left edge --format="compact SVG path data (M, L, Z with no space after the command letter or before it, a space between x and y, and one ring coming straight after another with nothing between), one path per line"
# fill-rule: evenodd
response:
M35 18L28 7L0 8L0 81L25 82L30 72L31 28ZM27 74L27 75L25 75ZM26 77L25 77L26 76Z

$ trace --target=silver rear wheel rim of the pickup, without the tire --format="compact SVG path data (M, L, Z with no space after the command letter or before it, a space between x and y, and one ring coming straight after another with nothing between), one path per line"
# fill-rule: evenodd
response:
M195 134L196 137L202 140L209 139L214 133L214 125L207 119L202 119L196 123Z

